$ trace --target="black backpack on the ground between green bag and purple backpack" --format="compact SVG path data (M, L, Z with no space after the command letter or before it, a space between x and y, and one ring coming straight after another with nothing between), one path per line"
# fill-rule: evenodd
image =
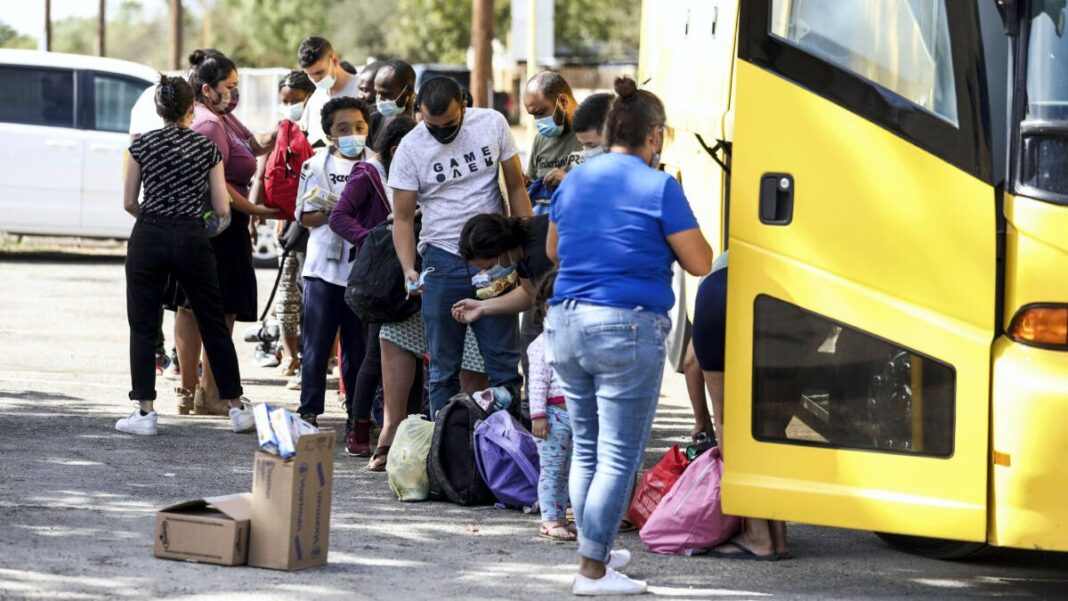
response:
M493 492L478 473L474 458L474 426L488 415L471 395L449 399L434 422L434 441L426 461L430 499L457 505L492 505Z

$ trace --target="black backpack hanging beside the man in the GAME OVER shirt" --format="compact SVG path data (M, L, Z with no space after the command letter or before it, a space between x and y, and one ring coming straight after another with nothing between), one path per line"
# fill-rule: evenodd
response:
M415 239L422 226L415 218ZM415 256L415 269L422 260ZM390 323L411 317L420 309L419 297L410 297L405 289L400 259L393 248L393 221L386 221L371 230L364 238L356 262L348 273L345 304L364 323Z

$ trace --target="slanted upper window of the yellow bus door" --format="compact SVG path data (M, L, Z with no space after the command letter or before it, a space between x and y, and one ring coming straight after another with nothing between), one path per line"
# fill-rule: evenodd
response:
M772 0L771 33L957 125L945 0Z

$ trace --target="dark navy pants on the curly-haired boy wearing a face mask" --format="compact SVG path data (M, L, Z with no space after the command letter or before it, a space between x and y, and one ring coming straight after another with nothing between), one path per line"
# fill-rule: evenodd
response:
M345 398L352 402L365 350L363 323L345 304L345 287L318 278L304 278L304 348L300 360L301 415L326 410L327 363L334 335L341 330L341 373Z

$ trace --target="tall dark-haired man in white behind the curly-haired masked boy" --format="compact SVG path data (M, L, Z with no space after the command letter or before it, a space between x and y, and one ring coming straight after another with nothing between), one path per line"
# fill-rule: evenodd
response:
M300 128L308 132L308 141L312 146L318 148L330 143L320 125L323 107L331 98L359 98L359 82L356 76L341 67L341 58L334 52L333 46L321 37L309 37L301 42L297 61L300 69L315 83L315 93L308 99L304 114L300 117Z

